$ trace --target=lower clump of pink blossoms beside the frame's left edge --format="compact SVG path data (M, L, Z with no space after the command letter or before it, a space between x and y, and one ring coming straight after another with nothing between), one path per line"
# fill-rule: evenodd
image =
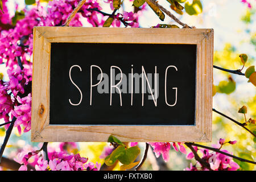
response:
M27 74L26 74L27 73ZM17 127L19 134L31 129L31 93L26 97L20 98L25 94L24 88L31 82L31 76L27 69L21 69L19 66L15 69L8 69L9 81L0 82L0 118L9 122L9 113L11 118L16 117L14 126ZM10 124L5 125L7 130Z

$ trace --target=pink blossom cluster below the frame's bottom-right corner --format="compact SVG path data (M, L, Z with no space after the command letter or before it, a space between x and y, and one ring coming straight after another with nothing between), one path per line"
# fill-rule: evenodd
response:
M235 144L235 141L229 141L226 143L230 143L230 144ZM222 147L222 145L225 144L225 139L220 139L220 142L217 145L213 145L214 148L218 148L220 149ZM209 152L208 149L206 148L200 148L198 149L196 146L192 146L196 152L200 152L203 157L201 157L201 159L205 160L205 162L207 162L210 166L210 168L214 171L236 171L238 168L240 168L240 166L233 161L233 158L218 152ZM232 152L229 152L227 150L220 150L222 152L226 152L228 154L232 155ZM187 155L187 159L192 159L194 158L194 154L193 152L190 152ZM196 163L197 164L197 163ZM185 168L185 170L187 171L208 171L209 169L205 168L204 166L202 166L199 163L200 167L196 167L196 164L193 165L192 163L190 164L189 168Z

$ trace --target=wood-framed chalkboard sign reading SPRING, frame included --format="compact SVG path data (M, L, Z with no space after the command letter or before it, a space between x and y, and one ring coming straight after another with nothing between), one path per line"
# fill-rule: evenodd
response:
M34 27L32 142L210 142L213 30Z

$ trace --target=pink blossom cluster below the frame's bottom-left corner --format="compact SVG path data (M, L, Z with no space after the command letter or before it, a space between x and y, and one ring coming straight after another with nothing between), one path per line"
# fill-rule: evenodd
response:
M101 164L88 162L88 158L81 157L80 154L68 154L64 148L75 147L75 143L60 143L59 151L51 147L48 152L49 160L44 159L42 150L21 151L14 160L22 164L19 171L27 171L28 165L34 167L36 171L98 171ZM88 163L87 163L88 162Z

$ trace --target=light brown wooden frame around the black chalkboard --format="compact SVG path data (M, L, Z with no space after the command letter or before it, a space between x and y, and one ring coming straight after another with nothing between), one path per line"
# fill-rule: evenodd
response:
M213 30L170 28L34 27L32 142L210 142ZM196 123L189 126L49 125L51 43L196 44Z

